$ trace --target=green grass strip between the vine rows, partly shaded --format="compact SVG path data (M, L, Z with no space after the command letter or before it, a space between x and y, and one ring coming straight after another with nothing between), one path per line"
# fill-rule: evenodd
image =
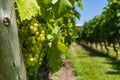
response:
M70 52L77 80L120 80L120 61L75 43Z

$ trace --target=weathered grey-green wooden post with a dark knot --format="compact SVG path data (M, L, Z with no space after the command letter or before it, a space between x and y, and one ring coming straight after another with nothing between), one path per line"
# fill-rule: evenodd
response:
M0 0L0 80L27 80L12 0Z

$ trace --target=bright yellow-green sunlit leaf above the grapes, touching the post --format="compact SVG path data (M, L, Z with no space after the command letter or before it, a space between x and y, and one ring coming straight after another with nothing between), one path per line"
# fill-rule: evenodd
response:
M17 0L16 3L21 21L25 19L30 20L40 11L36 0Z

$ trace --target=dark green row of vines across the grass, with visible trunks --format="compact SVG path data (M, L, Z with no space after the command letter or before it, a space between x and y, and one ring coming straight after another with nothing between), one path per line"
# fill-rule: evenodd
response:
M79 40L104 46L107 53L108 47L113 47L115 57L118 57L120 47L120 1L108 0L101 15L95 16L78 30Z

